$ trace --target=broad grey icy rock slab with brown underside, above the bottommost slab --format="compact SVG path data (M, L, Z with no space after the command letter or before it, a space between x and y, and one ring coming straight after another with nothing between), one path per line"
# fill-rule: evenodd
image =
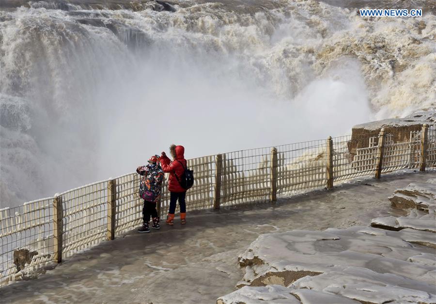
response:
M411 243L429 246L428 249ZM241 266L249 266L244 284L288 286L306 276L342 270L344 267L367 268L379 273L393 273L411 280L431 284L426 276L434 270L408 258L426 251L432 253L435 234L406 228L389 231L353 226L327 229L324 232L293 230L265 234L251 243L239 256ZM401 285L399 285L401 287Z

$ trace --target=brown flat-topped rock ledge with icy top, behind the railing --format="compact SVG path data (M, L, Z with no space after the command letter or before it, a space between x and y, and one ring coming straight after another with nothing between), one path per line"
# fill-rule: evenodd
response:
M419 131L423 124L435 124L436 111L417 112L404 118L377 120L354 126L351 131L351 141L348 151L354 156L356 149L368 147L370 137L377 137L381 128L385 134L392 134L394 143L403 143L410 140L410 132Z

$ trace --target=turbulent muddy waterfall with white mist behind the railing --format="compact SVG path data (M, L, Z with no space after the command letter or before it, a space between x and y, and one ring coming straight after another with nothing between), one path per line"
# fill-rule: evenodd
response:
M434 108L429 3L368 18L365 0L4 0L0 207L131 172L172 143L192 158Z

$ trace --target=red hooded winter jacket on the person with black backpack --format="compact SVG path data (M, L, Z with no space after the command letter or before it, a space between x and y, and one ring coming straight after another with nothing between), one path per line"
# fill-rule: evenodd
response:
M166 155L160 157L160 165L162 166L162 170L166 173L170 173L170 180L168 182L168 190L170 192L186 192L186 190L180 186L177 178L175 177L175 175L177 175L180 180L185 172L187 161L185 160L184 154L185 148L182 145L177 145L175 147L176 157L173 161L171 161Z

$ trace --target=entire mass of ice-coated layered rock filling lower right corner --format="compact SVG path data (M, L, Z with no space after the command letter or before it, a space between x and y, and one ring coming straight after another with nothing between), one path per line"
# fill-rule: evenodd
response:
M434 181L395 191L414 209L373 227L260 236L238 258L244 287L217 303L435 303Z

